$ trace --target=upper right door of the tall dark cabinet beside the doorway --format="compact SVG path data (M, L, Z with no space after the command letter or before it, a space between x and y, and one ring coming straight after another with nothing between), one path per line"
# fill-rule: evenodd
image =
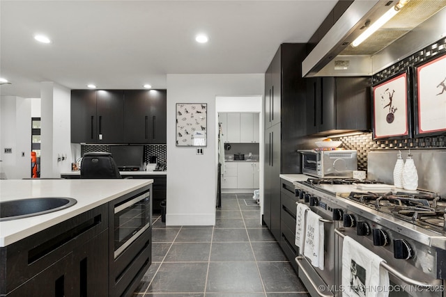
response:
M271 81L272 81L272 103L271 103L271 126L280 122L281 95L282 95L282 66L281 66L281 48L271 62Z

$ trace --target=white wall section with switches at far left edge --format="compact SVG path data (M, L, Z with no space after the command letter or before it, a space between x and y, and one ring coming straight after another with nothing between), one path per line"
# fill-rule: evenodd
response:
M0 106L0 178L31 177L31 100L3 96Z

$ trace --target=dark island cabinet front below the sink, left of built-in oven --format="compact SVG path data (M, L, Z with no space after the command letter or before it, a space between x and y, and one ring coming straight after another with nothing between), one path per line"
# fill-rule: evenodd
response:
M108 243L104 204L1 247L0 296L108 296Z

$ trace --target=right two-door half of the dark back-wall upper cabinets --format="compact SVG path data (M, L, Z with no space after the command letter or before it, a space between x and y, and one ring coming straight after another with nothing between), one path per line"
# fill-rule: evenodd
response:
M124 90L124 142L166 143L166 90Z

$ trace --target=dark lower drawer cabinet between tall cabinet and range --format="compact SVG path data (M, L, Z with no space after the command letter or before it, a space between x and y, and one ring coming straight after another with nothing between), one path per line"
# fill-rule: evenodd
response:
M294 185L285 179L280 179L280 247L289 259L291 266L298 271L298 264L295 263L295 257L298 256L298 247L295 246L295 218L296 202Z

